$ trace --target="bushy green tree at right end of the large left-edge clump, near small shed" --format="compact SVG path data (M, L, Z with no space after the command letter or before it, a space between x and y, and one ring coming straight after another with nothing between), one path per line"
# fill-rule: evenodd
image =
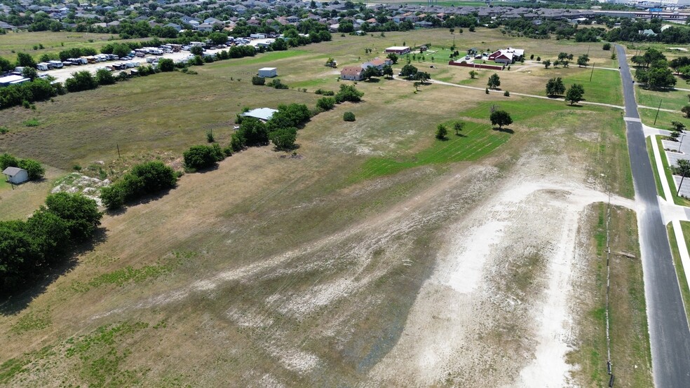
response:
M90 240L103 216L96 201L81 194L50 194L46 206L48 212L66 221L69 237L74 241Z

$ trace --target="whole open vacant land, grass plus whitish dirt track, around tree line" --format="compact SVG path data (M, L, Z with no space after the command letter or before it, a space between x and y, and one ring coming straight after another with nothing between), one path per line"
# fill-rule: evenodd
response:
M327 57L356 64L365 47L413 39L452 41L440 30L336 36L65 95L3 111L11 132L0 151L63 173L109 165L116 144L124 158L174 159L209 129L226 144L243 106L313 106L313 90L340 85ZM266 65L292 89L251 85ZM586 340L572 334L574 258L590 247L577 238L583 212L609 193L632 203L620 109L383 79L356 87L365 101L315 116L295 157L251 148L105 216L95 247L0 305L0 384L566 384L579 368L567 354ZM515 123L492 130L492 107ZM34 116L39 127L21 125ZM434 138L455 120L464 136ZM0 206L5 217L36 205L15 196Z

